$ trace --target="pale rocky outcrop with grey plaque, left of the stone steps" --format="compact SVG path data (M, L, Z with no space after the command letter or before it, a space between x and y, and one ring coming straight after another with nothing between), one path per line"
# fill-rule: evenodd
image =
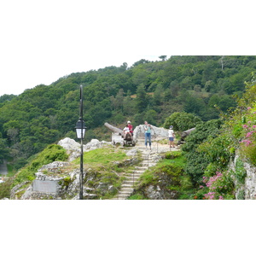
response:
M67 162L55 161L42 166L35 173L36 178L32 182L20 183L11 191L11 199L79 199L79 175L80 169L74 169L72 160L80 156L80 144L73 139L65 138L59 143L67 150L69 159ZM112 143L99 142L96 139L84 145L84 152L102 147L113 147ZM129 159L114 162L118 167L129 166L137 163L137 149L125 150ZM102 195L113 194L113 180L119 180L119 173L109 171L105 174L102 170L84 170L84 199L99 199ZM113 180L112 180L113 179Z

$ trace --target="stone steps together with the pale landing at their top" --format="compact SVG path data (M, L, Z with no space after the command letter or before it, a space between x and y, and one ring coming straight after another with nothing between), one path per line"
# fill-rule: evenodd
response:
M144 145L144 140L138 140L137 145L134 147L142 153L143 161L140 166L135 166L135 169L127 174L125 181L119 190L119 194L116 195L113 200L124 200L127 199L134 189L134 184L137 182L139 177L143 172L147 171L149 167L155 166L157 164L156 156L157 154L167 152L167 151L177 151L176 148L170 148L168 144L152 143L151 150L148 150Z

